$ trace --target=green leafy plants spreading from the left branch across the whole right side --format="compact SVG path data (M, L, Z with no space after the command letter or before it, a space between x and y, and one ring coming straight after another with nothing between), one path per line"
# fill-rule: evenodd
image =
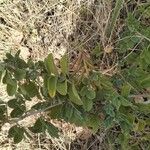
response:
M0 77L12 99L0 102L0 120L1 125L12 124L8 134L15 143L31 137L31 132L47 131L58 137L61 131L49 122L57 119L88 127L93 134L105 131L109 134L105 140L114 149L138 150L141 144L142 149L150 149L150 4L128 3L127 13L123 0L115 3L105 33L107 42L90 53L81 50L73 62L68 54L57 64L52 54L37 62L26 62L20 51L6 54ZM116 35L118 17L123 28ZM112 65L114 55L118 59ZM102 60L112 68L102 71ZM35 97L40 102L28 110L26 101ZM33 126L18 123L36 114ZM112 131L116 132L112 135Z

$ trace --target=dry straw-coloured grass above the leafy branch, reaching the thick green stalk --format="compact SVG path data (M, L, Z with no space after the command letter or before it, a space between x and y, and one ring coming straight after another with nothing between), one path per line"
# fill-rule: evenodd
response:
M0 6L0 50L21 49L36 59L53 52L107 46L106 27L112 2L101 0L7 0ZM72 41L71 41L71 40ZM94 43L93 43L94 42ZM93 45L91 45L93 43Z

